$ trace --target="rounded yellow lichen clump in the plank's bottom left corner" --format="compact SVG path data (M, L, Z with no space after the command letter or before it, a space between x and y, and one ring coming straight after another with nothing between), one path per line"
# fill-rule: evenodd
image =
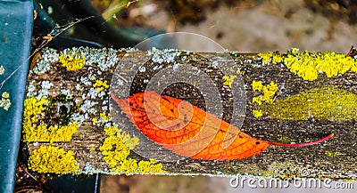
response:
M42 145L29 156L29 169L37 173L77 173L79 165L73 151Z

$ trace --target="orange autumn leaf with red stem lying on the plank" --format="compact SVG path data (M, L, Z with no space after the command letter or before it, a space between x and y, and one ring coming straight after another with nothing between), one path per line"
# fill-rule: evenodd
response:
M180 156L194 159L244 159L260 154L270 145L307 146L328 140L333 135L303 144L262 141L187 101L156 92L139 92L128 99L119 99L112 94L112 99L150 140Z

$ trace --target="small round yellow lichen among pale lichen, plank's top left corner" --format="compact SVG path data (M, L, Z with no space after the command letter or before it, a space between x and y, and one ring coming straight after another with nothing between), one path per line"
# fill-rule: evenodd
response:
M86 59L80 52L70 51L68 54L62 53L58 60L62 63L68 71L76 71L84 67Z

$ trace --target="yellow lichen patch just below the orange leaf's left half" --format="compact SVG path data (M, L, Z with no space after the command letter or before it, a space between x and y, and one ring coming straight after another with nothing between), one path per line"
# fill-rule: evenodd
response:
M109 126L104 129L107 137L99 148L104 156L104 161L115 173L164 173L162 164L154 159L140 161L130 158L130 149L138 145L138 138L131 138L129 134L122 132L117 126Z

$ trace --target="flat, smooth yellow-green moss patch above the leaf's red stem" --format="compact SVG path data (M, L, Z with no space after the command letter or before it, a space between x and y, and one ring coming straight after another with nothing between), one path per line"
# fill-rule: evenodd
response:
M273 104L263 104L260 109L268 116L278 119L347 121L356 119L356 101L357 96L352 92L322 87L300 92Z

